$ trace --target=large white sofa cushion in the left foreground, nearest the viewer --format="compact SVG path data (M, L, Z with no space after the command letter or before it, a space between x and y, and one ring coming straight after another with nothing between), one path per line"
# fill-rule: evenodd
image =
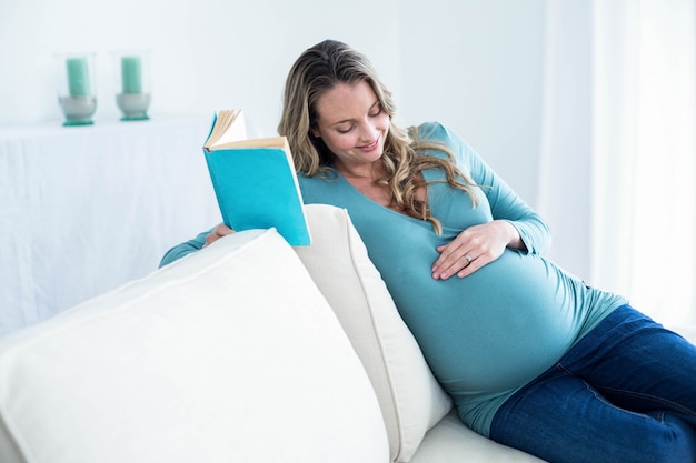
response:
M0 340L3 463L385 462L360 360L275 230Z

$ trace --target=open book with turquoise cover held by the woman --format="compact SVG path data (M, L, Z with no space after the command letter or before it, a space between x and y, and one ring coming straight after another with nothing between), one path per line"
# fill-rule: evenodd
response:
M247 140L241 111L220 111L203 153L226 225L236 231L275 228L292 246L311 244L285 137Z

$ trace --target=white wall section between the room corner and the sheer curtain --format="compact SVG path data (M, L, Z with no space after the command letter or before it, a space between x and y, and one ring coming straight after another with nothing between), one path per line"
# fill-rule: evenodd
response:
M399 6L405 114L454 127L534 205L546 0Z

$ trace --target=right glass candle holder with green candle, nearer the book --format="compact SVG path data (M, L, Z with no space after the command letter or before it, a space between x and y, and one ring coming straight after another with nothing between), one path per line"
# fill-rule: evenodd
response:
M145 50L117 51L115 57L116 103L121 121L145 121L150 108L150 53Z

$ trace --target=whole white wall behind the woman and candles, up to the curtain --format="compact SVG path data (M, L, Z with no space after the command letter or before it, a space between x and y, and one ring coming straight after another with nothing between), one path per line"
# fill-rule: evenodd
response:
M535 202L545 0L0 1L0 124L56 121L54 53L98 53L100 120L116 120L110 52L152 52L150 115L245 108L275 134L285 76L325 39L365 52L400 121L458 130Z

